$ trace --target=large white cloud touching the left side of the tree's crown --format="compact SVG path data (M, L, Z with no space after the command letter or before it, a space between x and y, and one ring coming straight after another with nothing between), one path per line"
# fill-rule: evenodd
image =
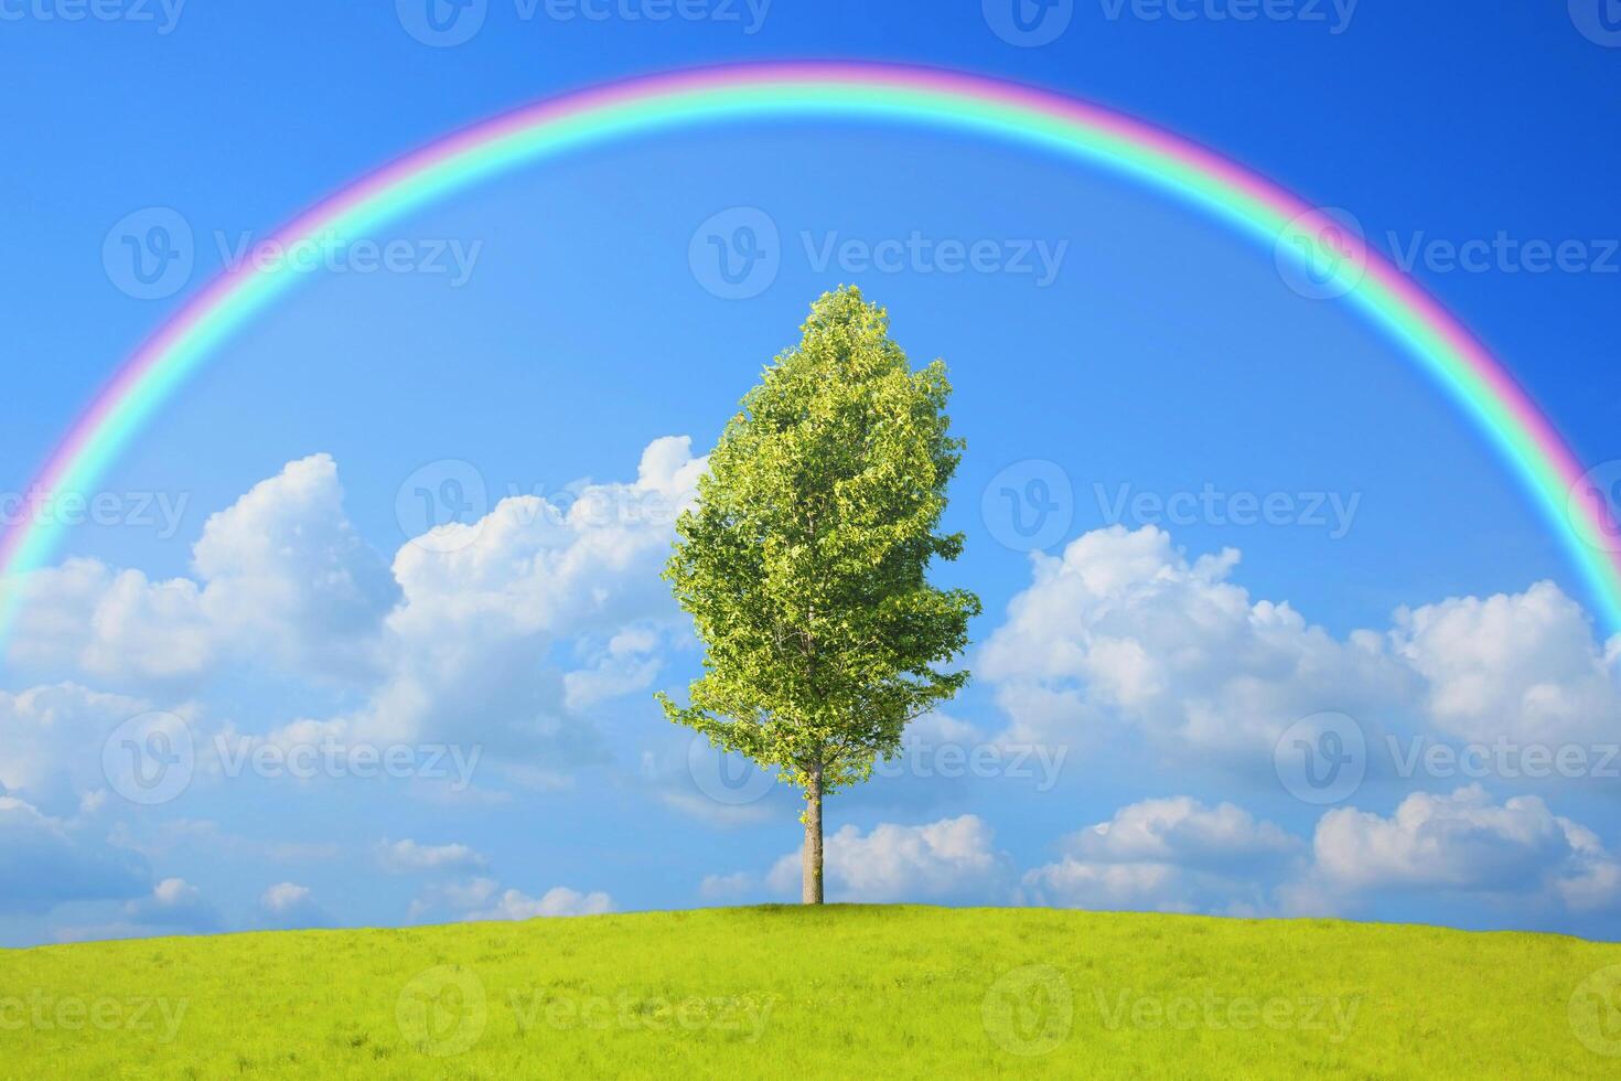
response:
M655 439L632 483L582 485L572 502L503 499L483 520L434 530L394 559L404 600L387 617L387 676L339 718L368 739L477 731L498 755L571 767L603 757L572 721L657 673L657 626L676 621L658 569L707 459ZM584 669L543 663L606 640Z

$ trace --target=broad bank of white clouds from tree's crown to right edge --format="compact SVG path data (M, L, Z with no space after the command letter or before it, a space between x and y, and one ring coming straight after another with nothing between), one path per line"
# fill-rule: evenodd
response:
M1334 710L1376 729L1477 742L1621 737L1621 635L1606 645L1555 583L1394 613L1345 639L1230 579L1238 553L1188 559L1159 528L1110 527L1031 585L976 663L1005 737L1131 729L1162 752L1268 762L1294 721Z

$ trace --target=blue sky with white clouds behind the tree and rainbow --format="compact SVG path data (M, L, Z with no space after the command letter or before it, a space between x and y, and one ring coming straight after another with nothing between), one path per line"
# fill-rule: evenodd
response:
M789 57L1068 91L1345 207L1376 245L1428 253L1412 272L1584 460L1621 457L1621 50L1558 6L1237 21L1076 3L1042 47L973 3L778 0L747 32L746 5L657 23L635 3L562 19L491 2L457 47L391 5L18 10L0 28L0 491L243 237L345 180L545 94ZM151 207L191 230L195 269L143 300L102 254ZM778 254L726 298L704 240L739 224ZM1580 241L1584 269L1449 271L1431 243L1499 235ZM986 614L974 686L893 776L830 805L833 896L1616 937L1621 650L1480 433L1272 251L1073 162L807 122L598 147L376 240L408 269L313 276L102 478L172 507L172 528L78 528L44 575L0 664L0 865L29 883L0 898L0 942L793 896L791 793L733 802L754 789L704 781L713 763L652 702L699 656L657 580L653 507L679 504L841 282L888 306L914 361L952 368L969 451L950 523L969 546L939 575ZM934 254L862 261L896 241ZM952 241L989 245L989 269L942 271ZM1059 501L1034 556L1002 496L1031 480ZM1234 496L1272 498L1276 520L1243 523ZM446 499L465 533L425 541ZM120 791L118 733L154 713L170 720L141 721L139 746L183 723L196 762L143 805ZM1363 741L1367 776L1302 799L1285 758L1331 729ZM412 767L233 770L323 741L408 747ZM1508 762L1446 767L1503 742ZM1438 763L1402 770L1415 747ZM1535 776L1542 747L1582 765Z

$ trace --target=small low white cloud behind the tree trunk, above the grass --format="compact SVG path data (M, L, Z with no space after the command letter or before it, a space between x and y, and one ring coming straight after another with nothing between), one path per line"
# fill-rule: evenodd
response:
M823 885L835 901L986 899L1005 893L1007 859L992 849L977 815L927 825L853 825L823 843ZM783 856L767 875L776 893L798 893L801 854Z

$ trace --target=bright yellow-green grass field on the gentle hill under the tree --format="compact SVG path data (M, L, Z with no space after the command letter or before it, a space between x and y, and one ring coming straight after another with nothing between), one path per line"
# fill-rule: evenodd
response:
M0 950L0 1075L1616 1078L1621 945L772 906Z

